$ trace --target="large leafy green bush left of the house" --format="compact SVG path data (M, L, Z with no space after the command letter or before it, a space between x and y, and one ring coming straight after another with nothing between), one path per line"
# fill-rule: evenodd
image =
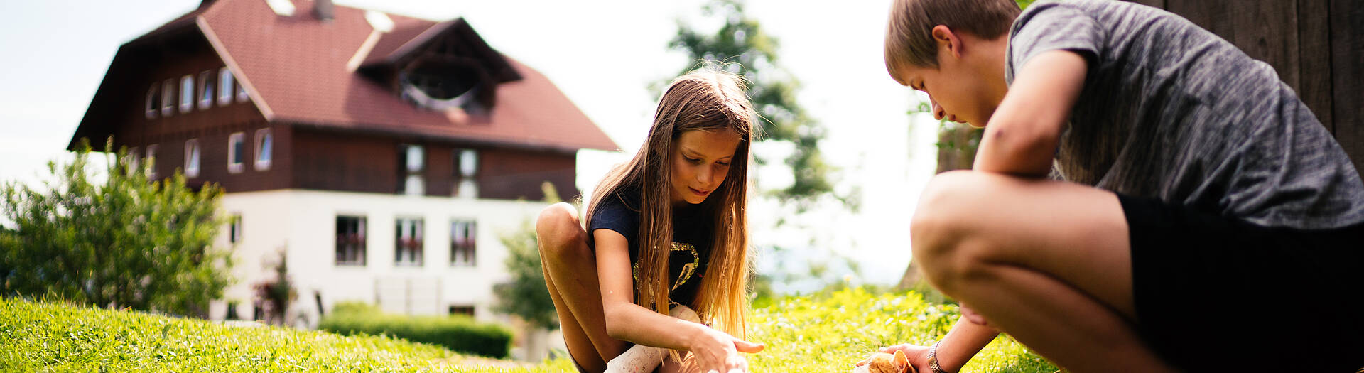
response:
M113 138L105 145L113 149ZM100 307L202 316L222 296L231 255L211 247L225 224L216 216L222 190L186 187L184 175L149 182L154 160L108 154L102 184L90 180L90 143L75 160L48 163L45 189L0 187L0 277L5 296L56 296Z

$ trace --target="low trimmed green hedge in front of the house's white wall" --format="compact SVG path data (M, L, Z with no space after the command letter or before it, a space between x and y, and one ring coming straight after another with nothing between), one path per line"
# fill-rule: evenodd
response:
M386 314L370 305L342 302L322 318L318 328L338 335L387 335L494 358L505 358L512 350L510 329L462 314Z

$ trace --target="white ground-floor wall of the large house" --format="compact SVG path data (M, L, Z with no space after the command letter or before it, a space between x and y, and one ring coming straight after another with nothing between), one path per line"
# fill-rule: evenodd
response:
M449 197L396 195L376 193L338 193L314 190L273 190L225 194L221 210L241 216L241 240L228 243L226 228L218 236L220 247L233 247L237 281L225 298L239 301L244 318L251 317L251 286L270 277L267 264L276 251L288 250L292 280L299 288L295 307L316 322L314 291L322 295L323 307L342 301L378 302L376 287L409 283L412 296L386 294L387 299L412 299L409 313L446 313L449 306L473 306L479 320L501 320L491 306L496 302L492 284L506 281L507 255L501 236L528 224L544 202L465 199ZM336 219L338 215L366 217L366 264L336 264ZM423 265L394 265L396 219L420 217L423 227ZM450 223L477 221L475 266L450 265ZM391 287L382 287L391 288ZM430 294L430 296L427 295ZM216 302L210 317L221 320L225 302Z

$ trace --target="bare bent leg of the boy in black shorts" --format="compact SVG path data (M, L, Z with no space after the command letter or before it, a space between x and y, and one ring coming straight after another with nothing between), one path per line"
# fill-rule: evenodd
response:
M929 281L1073 372L1172 372L1133 329L1117 195L1073 183L948 172L911 224Z

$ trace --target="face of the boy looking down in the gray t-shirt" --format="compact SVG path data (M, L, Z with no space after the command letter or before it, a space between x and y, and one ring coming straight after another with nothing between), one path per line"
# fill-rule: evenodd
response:
M922 90L933 104L933 118L985 127L1000 105L1003 93L992 79L1003 82L1004 66L992 68L990 42L970 34L934 29L938 67L906 66L892 75L903 86Z

